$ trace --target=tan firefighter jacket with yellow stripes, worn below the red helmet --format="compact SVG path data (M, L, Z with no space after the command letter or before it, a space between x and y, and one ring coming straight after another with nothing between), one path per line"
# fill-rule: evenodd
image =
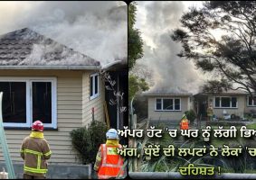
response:
M47 173L46 159L51 157L48 142L43 138L26 137L21 148L24 159L24 174L45 176Z

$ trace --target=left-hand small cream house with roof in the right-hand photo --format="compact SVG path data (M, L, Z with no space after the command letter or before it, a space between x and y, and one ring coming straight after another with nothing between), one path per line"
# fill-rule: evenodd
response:
M179 121L183 114L193 108L192 94L184 90L149 91L147 97L148 119L152 121Z

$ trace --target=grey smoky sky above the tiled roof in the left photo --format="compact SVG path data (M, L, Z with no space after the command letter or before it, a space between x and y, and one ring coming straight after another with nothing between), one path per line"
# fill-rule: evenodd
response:
M28 27L101 65L127 58L127 24L121 1L0 2L0 35Z

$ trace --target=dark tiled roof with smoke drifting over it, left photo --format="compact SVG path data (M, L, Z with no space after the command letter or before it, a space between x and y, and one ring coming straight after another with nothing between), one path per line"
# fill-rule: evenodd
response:
M92 66L100 62L24 28L0 35L0 67Z

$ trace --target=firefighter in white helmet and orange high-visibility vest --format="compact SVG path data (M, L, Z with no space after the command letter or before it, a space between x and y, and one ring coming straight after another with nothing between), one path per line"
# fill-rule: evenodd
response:
M98 172L99 179L115 178L124 175L122 169L123 157L117 154L116 148L122 148L119 144L119 134L115 129L106 133L106 144L101 144L97 153L94 170Z

